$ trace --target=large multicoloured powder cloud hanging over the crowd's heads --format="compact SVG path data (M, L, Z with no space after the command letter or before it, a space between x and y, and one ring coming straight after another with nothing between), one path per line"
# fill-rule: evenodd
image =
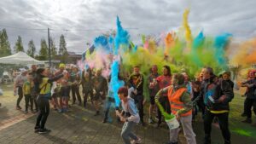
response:
M172 33L168 33L166 36L162 35L160 39L142 35L141 45L135 45L129 40L129 33L123 29L119 17L117 17L116 36L114 38L111 36L104 37L100 41L102 43L100 47L103 45L108 49L113 49L113 55L118 55L121 58L117 61L119 66L122 67L120 70L124 71L125 75L128 75L127 73L131 72L132 66L135 65L141 66L141 72L145 79L152 65L157 65L159 69L168 65L171 66L172 72L184 70L190 76L200 72L202 66L212 66L214 72L220 72L227 66L225 56L230 35L223 34L214 39L206 37L203 32L200 32L193 39L188 18L189 9L186 9L183 13L183 31L179 32L180 30L178 30L175 35ZM106 54L108 50L105 50L105 48L99 49L98 45L96 47L95 52L89 56L86 55L87 64L90 67L111 67L113 58L109 58L108 53ZM187 49L191 53L184 53ZM251 61L253 61L253 56ZM146 93L148 90L146 86L145 89Z

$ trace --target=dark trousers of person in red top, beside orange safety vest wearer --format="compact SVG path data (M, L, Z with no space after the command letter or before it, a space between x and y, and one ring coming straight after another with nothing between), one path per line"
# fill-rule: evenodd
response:
M171 114L171 106L170 106L168 97L167 96L160 97L159 101L160 101L161 106L164 107L165 111L167 113ZM161 114L159 108L157 109L157 118L158 118L157 124L161 124L161 122L162 122L162 114Z

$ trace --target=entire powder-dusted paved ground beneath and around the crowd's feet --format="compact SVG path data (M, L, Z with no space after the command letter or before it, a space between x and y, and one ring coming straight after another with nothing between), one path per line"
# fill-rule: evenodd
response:
M2 87L3 88L3 87ZM4 95L0 96L0 143L79 143L79 144L121 144L120 135L122 124L115 121L112 112L113 123L102 124L103 114L93 116L93 108L89 105L84 109L77 105L71 107L72 112L57 113L50 110L46 127L52 130L47 135L34 133L33 128L37 115L15 110L16 97L12 95L12 87L4 88ZM232 132L233 144L254 144L256 141L256 128L249 124L241 124L239 117L244 98L236 97L231 104L230 130ZM24 107L24 99L21 101ZM146 110L145 110L146 112ZM146 114L147 115L147 114ZM145 118L145 120L147 117ZM253 117L253 119L256 119ZM203 139L203 124L200 117L194 124L197 143L201 144ZM163 144L168 141L169 131L166 125L156 129L153 125L143 127L137 125L135 132L143 139L144 144ZM180 135L180 143L183 144L184 137ZM212 144L224 143L218 127L212 127Z

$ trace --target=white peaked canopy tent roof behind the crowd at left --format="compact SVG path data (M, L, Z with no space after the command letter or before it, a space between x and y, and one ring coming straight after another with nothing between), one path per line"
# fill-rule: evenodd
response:
M18 52L15 55L9 55L0 58L0 63L3 64L16 64L16 65L27 65L27 64L44 64L44 61L36 60L24 52Z

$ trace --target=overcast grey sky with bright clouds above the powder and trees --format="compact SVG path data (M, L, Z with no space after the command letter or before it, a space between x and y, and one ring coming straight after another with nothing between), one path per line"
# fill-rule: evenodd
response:
M116 15L138 42L141 33L177 29L189 8L194 34L230 32L236 39L247 39L256 37L255 6L255 0L1 0L0 28L7 29L12 48L20 35L25 49L33 39L38 50L49 27L57 46L64 34L67 49L82 52L94 37L115 29Z

